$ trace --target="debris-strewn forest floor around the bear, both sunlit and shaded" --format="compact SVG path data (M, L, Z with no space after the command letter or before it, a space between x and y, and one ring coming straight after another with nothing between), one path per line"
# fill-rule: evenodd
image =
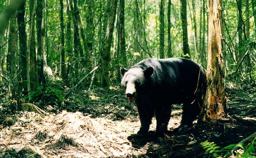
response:
M161 136L154 135L155 118L148 135L134 134L140 128L136 106L126 101L118 86L109 91L84 91L82 96L90 100L87 99L87 106L81 107L80 112L56 109L52 112L49 108L45 112L34 106L37 109L34 112L17 114L12 126L0 125L0 158L215 157L203 149L201 142L214 142L223 148L238 144L256 132L255 86L232 83L226 86L230 119L207 124L195 121L192 128L174 132L182 113L181 106L174 105L169 132ZM93 110L88 112L88 109Z

